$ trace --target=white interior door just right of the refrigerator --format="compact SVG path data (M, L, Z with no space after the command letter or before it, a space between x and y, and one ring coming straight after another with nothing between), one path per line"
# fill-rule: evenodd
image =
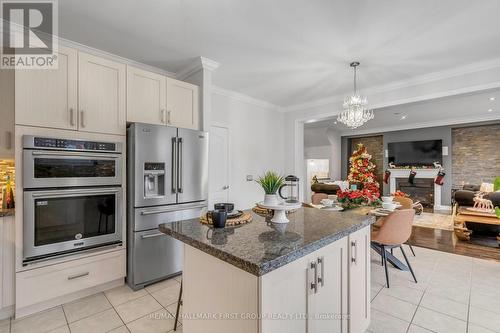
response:
M229 201L229 129L210 127L208 207Z

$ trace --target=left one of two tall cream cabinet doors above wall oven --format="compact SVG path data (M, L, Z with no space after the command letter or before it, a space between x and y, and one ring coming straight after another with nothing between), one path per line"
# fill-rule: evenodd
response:
M17 70L16 124L76 129L77 51L59 47L58 68Z

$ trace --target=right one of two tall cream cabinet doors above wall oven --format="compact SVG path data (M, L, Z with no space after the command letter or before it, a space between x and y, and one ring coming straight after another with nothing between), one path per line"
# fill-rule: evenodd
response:
M125 65L78 54L78 129L126 134Z

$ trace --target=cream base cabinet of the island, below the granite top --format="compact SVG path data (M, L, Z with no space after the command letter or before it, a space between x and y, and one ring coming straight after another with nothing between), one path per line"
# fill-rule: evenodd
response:
M364 333L370 322L369 230L261 276L185 245L183 332Z

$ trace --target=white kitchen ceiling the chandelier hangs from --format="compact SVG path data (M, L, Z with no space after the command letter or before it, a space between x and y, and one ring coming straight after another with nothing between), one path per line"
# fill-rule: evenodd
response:
M500 55L498 0L61 0L62 37L177 72L221 63L214 83L279 106Z

